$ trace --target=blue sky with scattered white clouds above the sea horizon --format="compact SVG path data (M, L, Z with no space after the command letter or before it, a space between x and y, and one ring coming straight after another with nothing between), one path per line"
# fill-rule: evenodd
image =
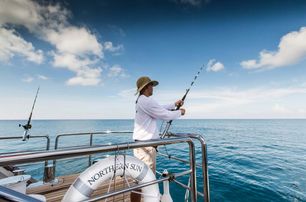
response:
M187 119L306 118L304 0L0 0L0 120L132 119L136 80Z

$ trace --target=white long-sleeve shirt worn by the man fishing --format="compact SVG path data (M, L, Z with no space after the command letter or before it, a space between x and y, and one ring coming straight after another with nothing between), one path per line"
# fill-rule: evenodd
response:
M175 104L161 106L153 98L141 95L136 103L134 140L159 139L157 120L169 121L181 116L181 111L169 111Z

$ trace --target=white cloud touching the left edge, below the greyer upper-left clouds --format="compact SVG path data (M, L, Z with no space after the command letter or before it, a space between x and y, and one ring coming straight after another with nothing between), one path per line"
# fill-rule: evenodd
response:
M43 61L41 50L36 50L32 43L25 41L15 30L0 27L0 60L8 62L15 55L37 64Z

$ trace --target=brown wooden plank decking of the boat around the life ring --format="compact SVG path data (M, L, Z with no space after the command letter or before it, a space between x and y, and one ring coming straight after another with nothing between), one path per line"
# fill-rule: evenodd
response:
M57 202L61 201L64 197L65 193L67 192L70 185L74 182L74 180L79 176L79 174L74 175L67 175L67 176L60 176L58 177L59 183L57 184L44 184L38 187L28 188L27 194L41 194L44 195L47 199L47 202ZM110 190L114 190L114 182L111 184ZM129 184L133 185L132 180L129 180ZM107 193L109 184L103 184L100 186L93 194L92 197L101 196L102 194ZM127 183L121 177L116 178L116 190L123 189L128 187ZM100 200L105 201L105 199ZM115 197L108 198L108 201L130 201L130 192L125 194L120 194Z

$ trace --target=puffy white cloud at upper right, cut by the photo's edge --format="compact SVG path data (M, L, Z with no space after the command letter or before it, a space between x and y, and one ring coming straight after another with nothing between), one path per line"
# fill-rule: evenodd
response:
M283 36L277 51L262 50L259 59L242 61L245 69L273 69L296 64L306 57L306 27Z

